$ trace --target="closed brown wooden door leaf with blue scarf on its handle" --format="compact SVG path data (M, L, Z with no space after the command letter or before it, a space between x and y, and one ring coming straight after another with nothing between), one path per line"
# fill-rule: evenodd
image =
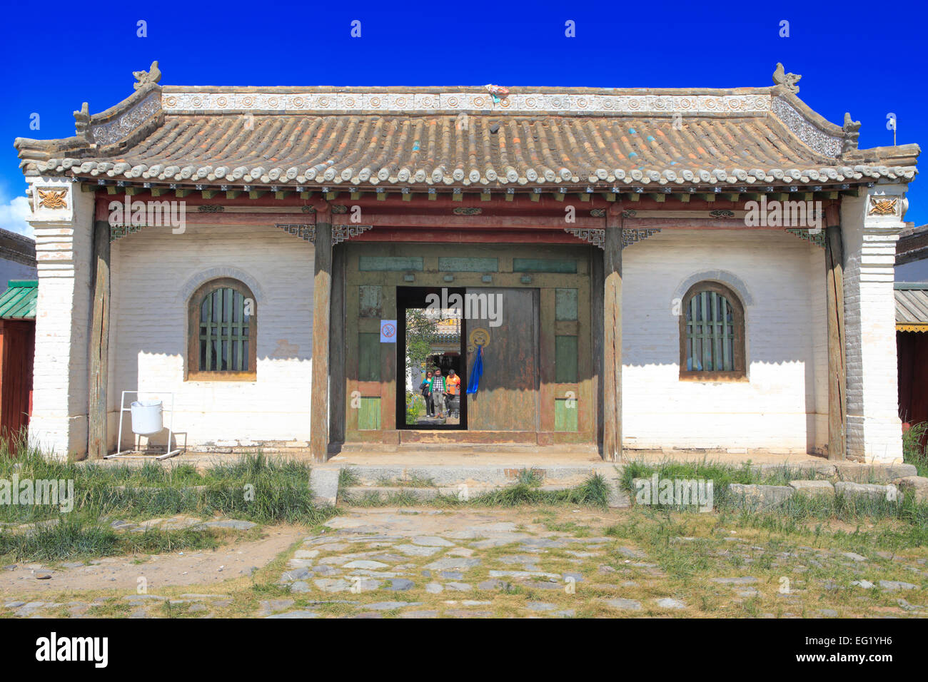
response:
M471 295L496 296L498 327L483 317L467 320L468 334L489 332L483 349L483 378L476 394L468 395L470 431L536 431L538 429L538 290L469 288ZM473 311L471 311L473 314ZM476 349L468 342L468 372ZM470 376L466 378L470 380Z

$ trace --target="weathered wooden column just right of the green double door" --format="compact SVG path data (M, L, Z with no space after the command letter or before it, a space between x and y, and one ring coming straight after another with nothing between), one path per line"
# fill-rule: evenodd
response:
M606 214L603 252L602 457L622 457L622 204Z

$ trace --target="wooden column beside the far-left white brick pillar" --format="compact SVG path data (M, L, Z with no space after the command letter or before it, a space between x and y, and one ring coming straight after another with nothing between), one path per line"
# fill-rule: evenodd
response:
M94 308L90 325L87 458L102 459L107 456L109 447L107 382L110 369L110 224L105 220L94 221L93 267Z

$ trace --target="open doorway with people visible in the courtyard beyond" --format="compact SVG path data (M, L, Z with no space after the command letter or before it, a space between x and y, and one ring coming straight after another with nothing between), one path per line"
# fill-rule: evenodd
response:
M445 296L464 293L444 291ZM396 364L404 370L399 374L405 389L396 392L397 429L467 431L467 400L462 395L467 323L459 309L429 305L441 301L442 293L441 288L396 289Z

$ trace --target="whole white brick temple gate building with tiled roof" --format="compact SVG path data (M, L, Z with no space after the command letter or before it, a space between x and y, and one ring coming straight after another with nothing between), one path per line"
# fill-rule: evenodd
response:
M55 457L113 453L123 391L173 394L161 446L190 451L901 457L920 150L857 148L780 65L731 89L160 77L15 143L29 428ZM404 334L434 297L462 311L458 375L483 371L430 431L406 425Z

